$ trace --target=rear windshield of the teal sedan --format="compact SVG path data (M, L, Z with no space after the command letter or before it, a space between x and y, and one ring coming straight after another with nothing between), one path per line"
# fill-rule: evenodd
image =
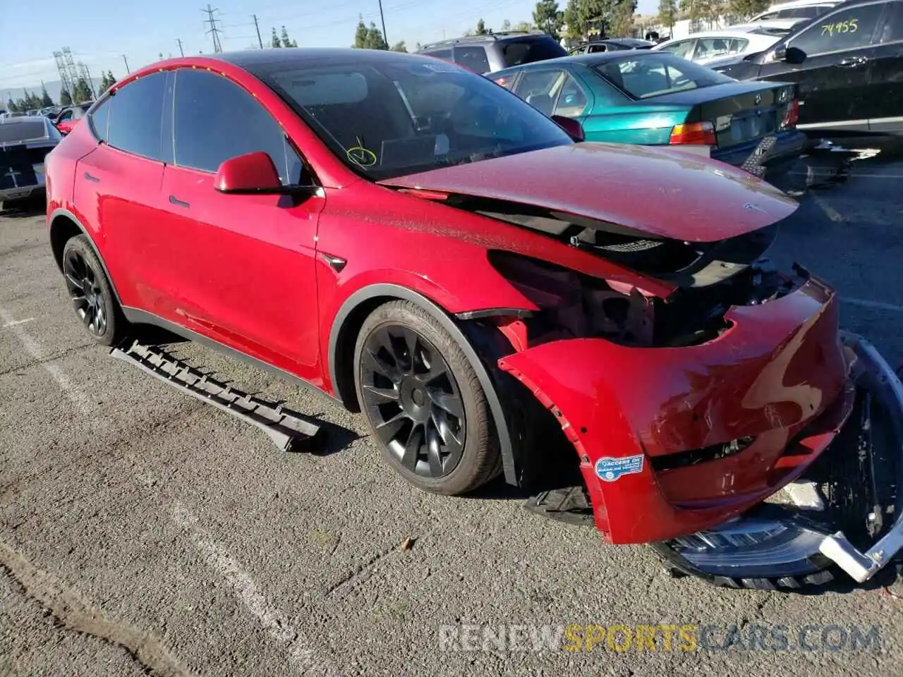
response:
M608 60L596 64L595 68L612 84L634 98L659 97L734 81L726 75L672 54L643 52L641 58Z

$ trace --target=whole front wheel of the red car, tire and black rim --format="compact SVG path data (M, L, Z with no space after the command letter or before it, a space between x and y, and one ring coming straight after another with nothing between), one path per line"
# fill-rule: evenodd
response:
M458 496L501 472L479 378L455 339L420 306L389 301L364 320L354 385L384 458L414 487Z

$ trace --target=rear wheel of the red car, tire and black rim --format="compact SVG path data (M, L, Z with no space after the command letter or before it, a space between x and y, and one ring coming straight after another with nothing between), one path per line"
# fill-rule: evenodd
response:
M88 237L70 237L62 250L63 276L76 316L98 345L113 346L123 338L126 319Z

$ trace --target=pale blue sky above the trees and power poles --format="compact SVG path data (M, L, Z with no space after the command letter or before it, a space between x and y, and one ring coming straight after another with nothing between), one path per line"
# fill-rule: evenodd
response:
M382 0L389 44L405 41L409 50L417 42L452 38L476 26L482 18L487 28L499 30L506 19L512 24L532 21L535 0ZM639 14L654 14L657 0L639 0ZM564 0L560 0L564 8ZM53 51L69 47L95 78L112 70L126 75L126 62L135 70L164 58L211 53L209 24L205 26L206 0L78 0L63 3L60 12L47 2L0 0L0 89L40 87L41 80L59 79ZM272 29L284 25L299 47L349 47L354 42L358 14L379 26L378 0L330 0L315 4L305 0L211 0L221 29L225 51L257 47L252 14L257 15L266 45Z

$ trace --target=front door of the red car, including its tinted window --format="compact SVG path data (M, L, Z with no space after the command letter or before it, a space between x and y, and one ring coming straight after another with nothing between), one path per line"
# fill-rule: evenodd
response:
M311 183L275 118L224 76L175 72L174 162L146 265L189 329L308 381L319 378L315 254L325 198L228 195L221 162L264 151L284 185Z

